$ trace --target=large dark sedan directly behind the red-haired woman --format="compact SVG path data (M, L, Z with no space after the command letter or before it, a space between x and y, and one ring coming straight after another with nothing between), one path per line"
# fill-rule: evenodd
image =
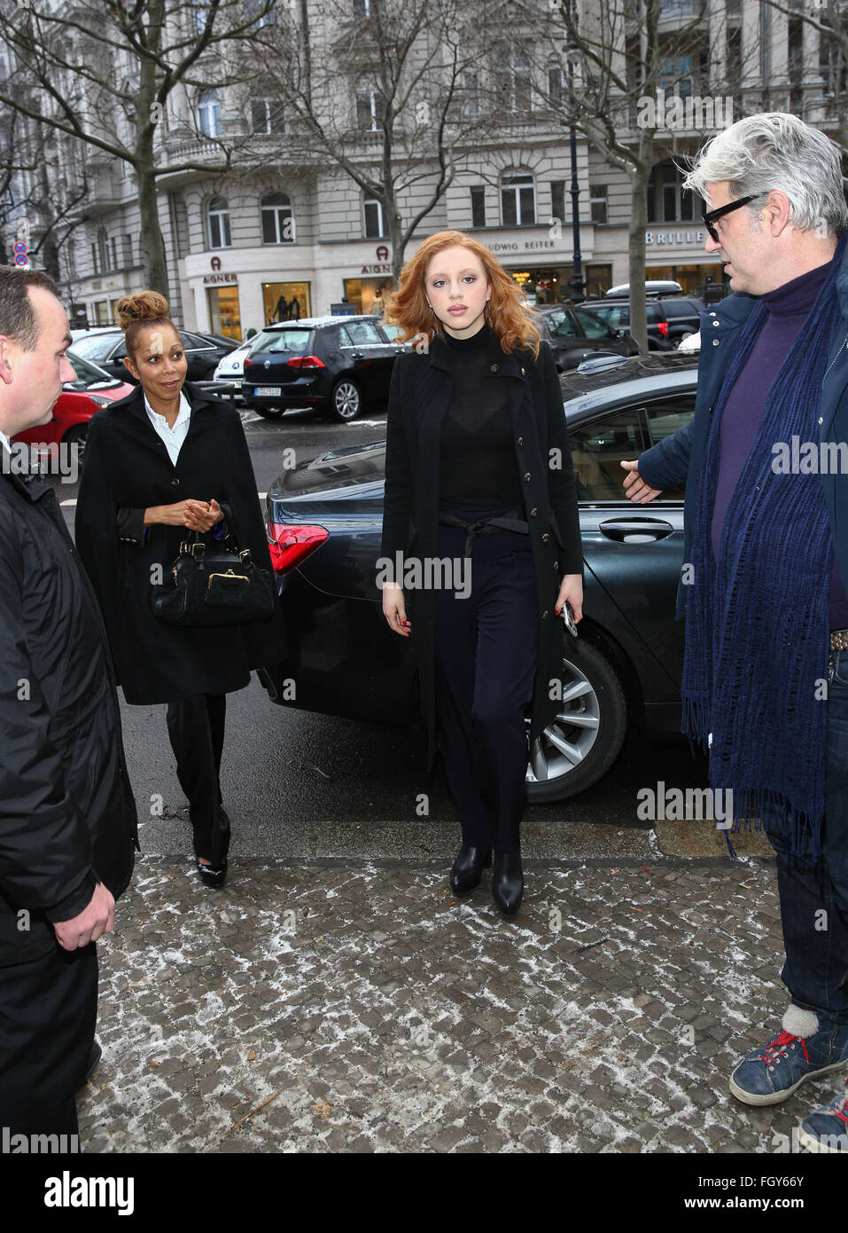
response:
M530 751L531 801L595 783L630 723L653 739L679 736L683 488L634 506L620 462L687 422L696 376L690 356L647 355L561 377L585 604L579 636L562 631L567 687L556 723ZM271 485L271 561L291 650L260 676L283 705L394 725L415 719L415 673L410 642L386 625L376 584L385 446L333 450Z

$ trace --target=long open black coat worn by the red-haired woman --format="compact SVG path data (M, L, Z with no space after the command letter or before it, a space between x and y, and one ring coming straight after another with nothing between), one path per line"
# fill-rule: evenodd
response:
M392 562L398 551L404 557L439 555L439 446L441 423L454 388L446 349L447 344L435 335L429 353L410 353L394 363L388 395L381 544L381 555ZM539 359L528 350L508 355L492 333L489 361L489 379L509 382L515 465L521 477L536 577L539 660L530 714L532 742L560 708L550 697L550 681L562 677L563 630L560 618L553 615L553 607L563 575L583 572L577 487L562 391L548 344L542 342ZM420 589L404 598L412 623L431 766L435 757L435 596L431 589Z

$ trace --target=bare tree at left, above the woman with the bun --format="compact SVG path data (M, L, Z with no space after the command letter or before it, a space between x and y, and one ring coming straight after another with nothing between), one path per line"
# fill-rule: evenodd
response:
M168 287L157 186L177 171L223 173L244 154L244 129L201 132L203 89L250 78L245 54L283 0L21 0L0 4L0 42L14 67L0 105L37 128L64 134L90 168L115 160L136 174L150 286ZM168 107L192 125L202 147L173 155L160 136Z

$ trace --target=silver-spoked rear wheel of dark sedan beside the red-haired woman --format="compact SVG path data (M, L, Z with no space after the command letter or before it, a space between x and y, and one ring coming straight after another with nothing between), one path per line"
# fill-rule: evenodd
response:
M534 742L528 801L565 800L597 783L615 762L627 727L619 674L584 636L562 633L563 697L556 720Z

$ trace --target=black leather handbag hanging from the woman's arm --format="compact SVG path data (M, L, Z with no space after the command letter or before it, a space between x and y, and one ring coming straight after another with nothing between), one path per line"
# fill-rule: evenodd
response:
M182 540L171 586L157 588L153 613L170 625L247 625L274 616L274 583L250 549L207 547L198 531ZM232 536L229 536L232 540Z

